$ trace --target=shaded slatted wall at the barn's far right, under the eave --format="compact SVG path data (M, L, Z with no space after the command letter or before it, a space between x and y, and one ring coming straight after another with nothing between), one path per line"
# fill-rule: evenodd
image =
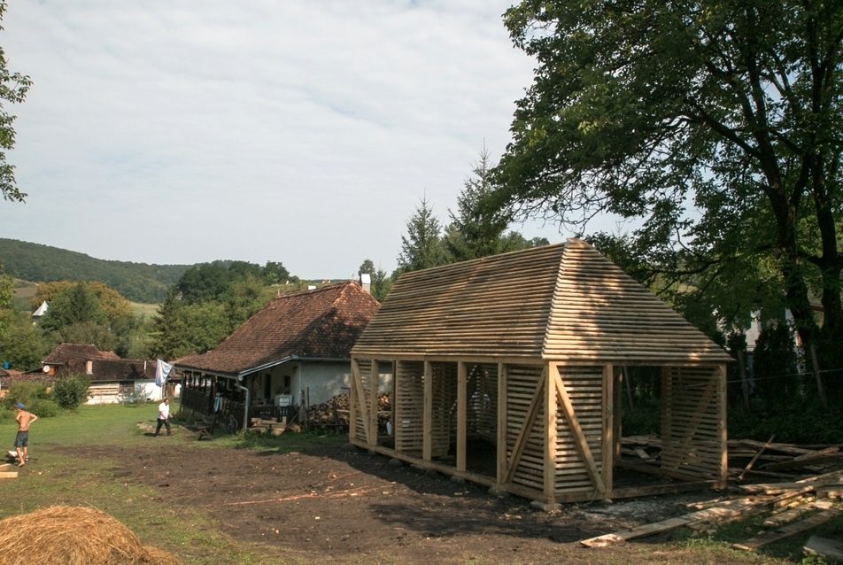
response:
M719 367L662 369L661 468L719 478L723 455Z

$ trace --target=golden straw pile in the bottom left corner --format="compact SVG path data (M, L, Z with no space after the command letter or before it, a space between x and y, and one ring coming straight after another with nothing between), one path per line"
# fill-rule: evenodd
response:
M182 565L145 547L112 516L80 507L50 507L0 521L0 565Z

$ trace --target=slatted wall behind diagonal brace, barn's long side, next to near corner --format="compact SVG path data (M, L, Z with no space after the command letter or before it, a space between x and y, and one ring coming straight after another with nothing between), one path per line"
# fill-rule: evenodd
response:
M530 409L536 388L544 384L542 367L510 365L507 367L507 460L512 457L515 440ZM512 477L513 484L520 484L538 491L545 482L545 408L542 403L530 424L521 458Z

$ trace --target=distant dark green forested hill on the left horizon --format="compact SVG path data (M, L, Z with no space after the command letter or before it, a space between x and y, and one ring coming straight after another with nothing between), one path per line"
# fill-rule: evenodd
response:
M33 283L97 281L134 302L161 303L167 286L192 265L148 265L95 259L50 245L0 238L0 275Z

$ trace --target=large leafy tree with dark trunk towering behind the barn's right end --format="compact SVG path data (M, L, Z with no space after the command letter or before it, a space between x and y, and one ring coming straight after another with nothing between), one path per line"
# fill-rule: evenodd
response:
M744 312L777 288L808 343L814 291L843 336L843 3L529 0L505 21L537 67L492 207L645 219L662 280L748 278Z

